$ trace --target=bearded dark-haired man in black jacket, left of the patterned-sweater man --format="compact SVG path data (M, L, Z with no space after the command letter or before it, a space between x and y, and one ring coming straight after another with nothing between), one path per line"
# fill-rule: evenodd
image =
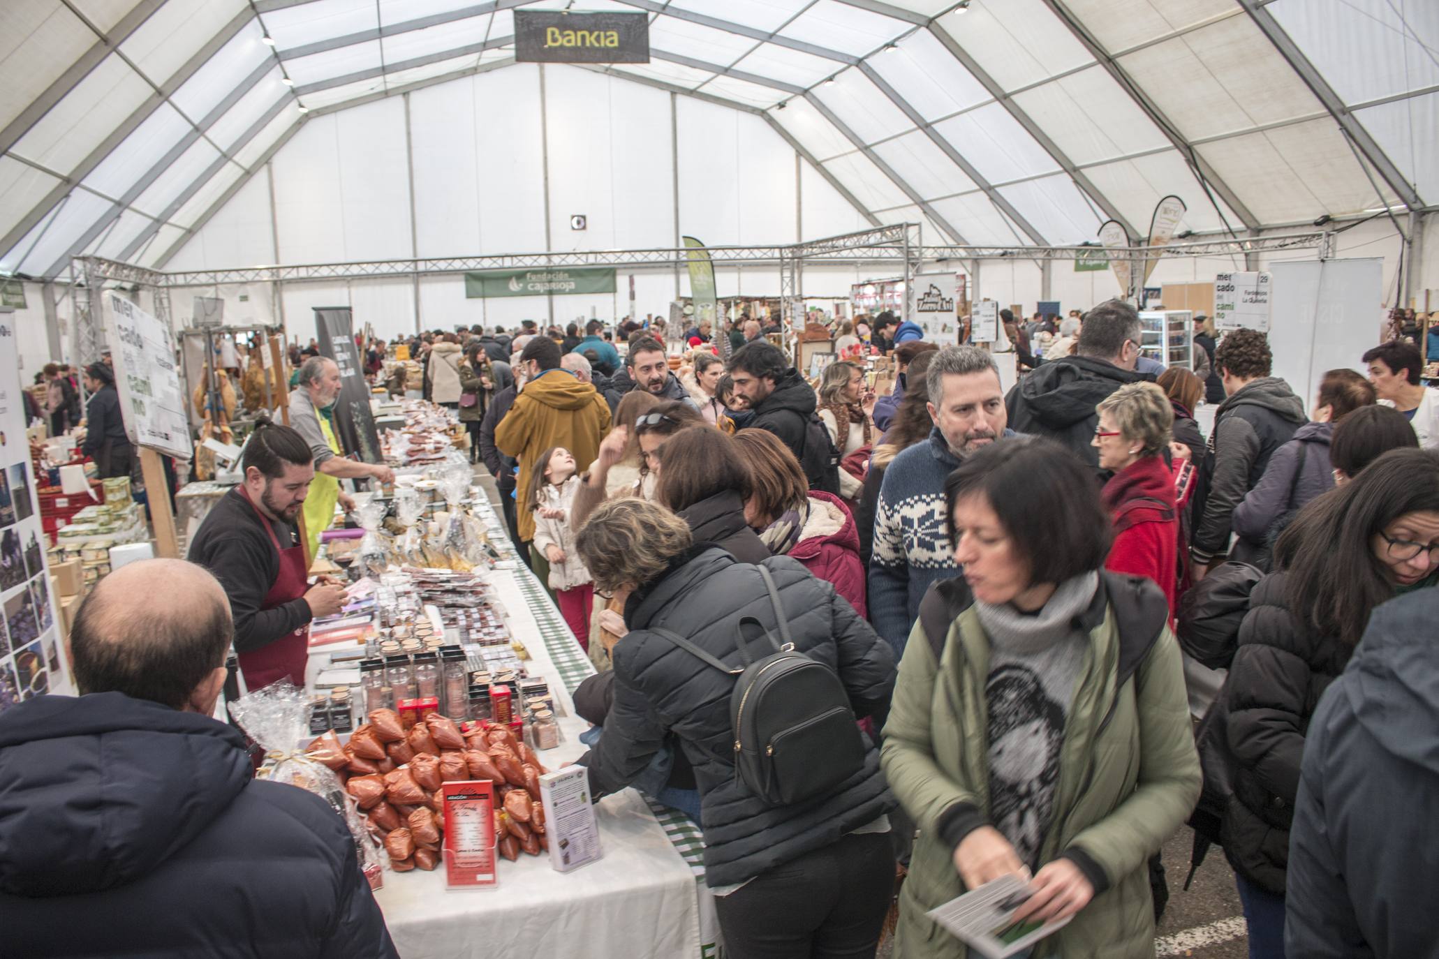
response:
M814 390L800 377L799 370L789 364L778 347L764 339L748 344L732 355L728 370L731 380L734 380L735 395L744 397L750 410L754 411L750 427L768 430L780 437L780 441L790 447L794 459L804 469L810 489L827 490L829 470L823 469L825 464L820 460L827 460L832 449L823 453L809 449L812 446L810 420L814 418L819 400ZM830 464L829 469L832 470L833 466ZM825 474L822 476L822 473ZM835 485L836 487L839 485L837 476Z

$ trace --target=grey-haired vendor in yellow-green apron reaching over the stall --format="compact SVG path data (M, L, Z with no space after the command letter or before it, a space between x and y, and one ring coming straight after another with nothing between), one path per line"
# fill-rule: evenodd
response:
M299 367L299 378L289 394L289 423L309 443L315 463L315 482L305 499L305 536L309 539L308 555L315 555L319 533L330 529L335 519L335 503L345 512L354 509L354 500L340 489L342 479L377 479L381 483L394 482L394 470L347 459L335 439L334 408L340 398L340 367L327 357L311 357Z

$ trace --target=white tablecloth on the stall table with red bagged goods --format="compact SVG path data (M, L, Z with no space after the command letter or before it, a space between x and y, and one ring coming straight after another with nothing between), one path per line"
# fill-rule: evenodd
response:
M547 768L584 752L578 735L589 726L550 657L525 594L515 577L488 574L508 611L511 628L531 656L531 671L550 680L563 703L564 742L540 753ZM547 598L548 614L557 612ZM570 643L574 643L573 637ZM574 648L578 653L578 646ZM550 868L548 855L499 861L499 883L489 890L449 891L443 867L433 873L386 873L376 893L390 935L404 959L495 959L512 956L623 956L694 959L699 955L699 906L695 876L633 789L606 797L596 807L604 857L574 873Z

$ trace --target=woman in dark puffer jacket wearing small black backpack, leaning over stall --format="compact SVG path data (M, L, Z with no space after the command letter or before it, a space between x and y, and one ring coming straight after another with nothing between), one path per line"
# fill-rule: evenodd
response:
M873 955L895 801L855 720L889 702L889 646L797 561L737 562L655 503L602 503L576 548L597 589L633 589L604 735L580 759L594 794L639 778L673 733L699 786L725 953Z

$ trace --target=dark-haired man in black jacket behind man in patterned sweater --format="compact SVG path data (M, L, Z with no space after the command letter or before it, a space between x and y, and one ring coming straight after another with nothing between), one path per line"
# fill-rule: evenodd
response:
M1098 470L1095 407L1122 385L1154 380L1134 371L1140 339L1140 315L1130 303L1111 299L1091 309L1075 355L1040 364L1004 397L1009 427L1055 440Z

